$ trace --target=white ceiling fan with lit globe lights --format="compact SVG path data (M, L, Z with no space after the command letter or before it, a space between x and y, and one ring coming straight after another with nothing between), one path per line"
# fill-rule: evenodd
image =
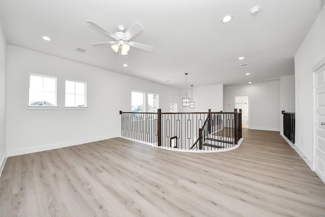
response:
M119 51L121 55L126 55L127 51L129 51L129 49L130 49L130 46L138 48L138 49L146 50L146 51L153 50L153 46L129 41L133 37L135 37L136 35L141 33L143 30L143 26L138 22L135 22L125 33L124 33L125 27L122 25L119 25L118 26L119 32L116 32L114 34L111 33L109 30L105 29L103 26L95 23L92 20L87 20L86 23L88 23L90 26L94 27L96 30L99 30L101 33L104 33L106 36L109 36L115 40L115 41L99 42L99 43L90 44L94 47L111 45L112 49L115 52Z

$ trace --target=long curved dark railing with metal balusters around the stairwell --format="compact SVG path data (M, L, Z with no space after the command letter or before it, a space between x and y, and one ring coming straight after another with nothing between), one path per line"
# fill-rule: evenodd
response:
M122 112L121 137L178 150L231 148L241 138L237 112Z

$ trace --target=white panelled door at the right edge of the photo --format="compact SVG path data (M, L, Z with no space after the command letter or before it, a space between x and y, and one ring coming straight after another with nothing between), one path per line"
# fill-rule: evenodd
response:
M314 169L325 181L325 61L315 70L314 80L315 128Z

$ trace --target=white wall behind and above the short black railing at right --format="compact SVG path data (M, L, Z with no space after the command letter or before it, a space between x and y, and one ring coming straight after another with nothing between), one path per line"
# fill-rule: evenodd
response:
M280 110L295 112L295 75L280 78ZM280 117L280 134L283 135L283 116Z

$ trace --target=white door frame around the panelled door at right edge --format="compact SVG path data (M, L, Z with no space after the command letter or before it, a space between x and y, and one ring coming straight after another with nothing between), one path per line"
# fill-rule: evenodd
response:
M312 169L316 170L316 150L317 150L317 92L316 92L316 74L325 67L325 58L312 68L313 73L313 157Z

